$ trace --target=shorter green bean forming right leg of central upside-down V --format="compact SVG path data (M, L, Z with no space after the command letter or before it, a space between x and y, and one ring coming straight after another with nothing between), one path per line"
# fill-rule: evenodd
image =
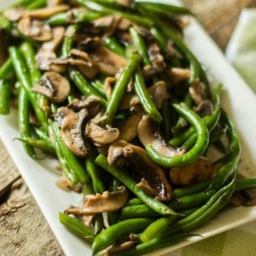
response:
M143 79L143 73L139 68L135 74L134 89L140 99L145 113L147 113L151 119L154 119L156 122L160 122L162 117L148 94L148 90Z

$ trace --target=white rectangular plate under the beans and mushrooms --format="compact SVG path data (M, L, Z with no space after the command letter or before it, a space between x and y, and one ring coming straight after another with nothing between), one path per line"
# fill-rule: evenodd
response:
M14 1L10 0L10 2ZM0 8L3 8L3 5L6 5L6 1L3 3L0 0ZM241 136L240 171L247 176L256 177L256 96L224 59L218 46L195 20L186 29L185 38L189 48L212 74L212 77L224 84L222 105L234 120ZM19 137L16 120L16 113L12 113L8 117L0 117L0 137L4 145L9 150L9 154L15 161L66 255L90 255L90 246L77 236L73 236L58 221L58 212L62 212L71 204L77 205L79 195L61 191L55 187L58 175L54 171L53 160L32 160L26 156L20 143L13 141L15 137ZM201 237L194 236L173 247L166 247L157 253L150 254L160 255L172 252L179 247L216 235L224 230L230 230L253 219L256 219L256 207L237 207L225 210L202 228L195 230L194 233L201 234Z

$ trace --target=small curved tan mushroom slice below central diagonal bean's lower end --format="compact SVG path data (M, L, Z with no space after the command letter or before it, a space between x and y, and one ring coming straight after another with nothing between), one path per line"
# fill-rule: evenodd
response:
M93 143L99 145L108 145L115 142L119 137L119 129L101 126L88 122L85 128L85 137L90 137Z

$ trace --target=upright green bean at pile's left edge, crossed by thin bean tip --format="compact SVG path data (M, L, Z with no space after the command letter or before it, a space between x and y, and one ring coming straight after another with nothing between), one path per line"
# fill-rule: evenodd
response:
M23 87L20 87L19 93L19 109L18 109L18 120L19 120L19 130L21 138L31 137L32 136L32 127L30 124L30 104L28 102L28 98L26 96L26 91ZM35 158L36 153L34 148L27 143L23 143L23 147L25 148L26 154Z

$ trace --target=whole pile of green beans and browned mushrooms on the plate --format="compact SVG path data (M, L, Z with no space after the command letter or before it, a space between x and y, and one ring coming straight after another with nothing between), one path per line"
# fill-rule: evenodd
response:
M17 106L20 137L14 143L21 142L35 160L42 153L54 157L61 188L82 196L83 206L60 212L59 219L91 244L93 255L141 255L175 245L235 192L256 188L256 178L237 177L241 148L220 105L222 85L212 89L183 42L178 20L193 15L189 9L147 0L129 6L112 0L49 2L18 1L10 7L24 10L17 19L0 14L9 43L0 66L0 113ZM25 17L31 34L31 27L24 32L20 26ZM47 39L41 37L44 29ZM49 79L53 73L68 90L61 80L56 85ZM58 93L67 95L57 101ZM221 155L214 162L207 158L212 147ZM127 148L135 153L127 156ZM192 168L200 160L211 166L208 177L201 173L210 172L207 164ZM192 182L172 178L187 168L188 175L196 171ZM120 205L112 197L121 198L123 191ZM106 218L105 204L113 207Z

